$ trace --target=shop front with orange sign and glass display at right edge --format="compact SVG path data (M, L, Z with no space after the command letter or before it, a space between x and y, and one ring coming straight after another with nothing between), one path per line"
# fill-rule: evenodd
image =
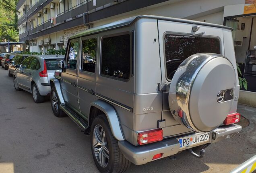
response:
M223 24L232 27L239 76L248 82L247 91L242 87L240 103L256 106L256 0L245 4L225 6Z

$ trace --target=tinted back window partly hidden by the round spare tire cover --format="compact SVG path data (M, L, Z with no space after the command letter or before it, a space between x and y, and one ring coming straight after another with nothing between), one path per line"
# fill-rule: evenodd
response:
M166 76L172 79L180 64L189 56L196 53L221 53L220 41L217 38L174 38L166 34L164 38Z

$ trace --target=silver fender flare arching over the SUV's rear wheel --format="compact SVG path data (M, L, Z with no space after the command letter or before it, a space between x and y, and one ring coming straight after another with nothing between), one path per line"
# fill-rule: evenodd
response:
M120 122L119 122L118 115L116 113L115 108L112 105L110 105L109 103L102 101L102 100L97 100L97 101L94 101L93 103L91 103L89 110L91 110L91 107L96 107L99 110L101 110L103 113L105 113L114 137L118 141L124 141L124 136L122 133L122 129L121 129ZM90 116L90 112L88 115ZM88 117L88 124L90 123L89 119L90 119L90 117Z

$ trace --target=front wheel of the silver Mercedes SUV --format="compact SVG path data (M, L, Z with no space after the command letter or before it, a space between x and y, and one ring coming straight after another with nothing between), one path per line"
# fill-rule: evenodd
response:
M60 102L59 102L60 99L58 97L55 87L52 87L50 99L51 99L52 112L54 113L54 115L56 117L65 117L66 114L60 109ZM56 103L54 104L54 102Z

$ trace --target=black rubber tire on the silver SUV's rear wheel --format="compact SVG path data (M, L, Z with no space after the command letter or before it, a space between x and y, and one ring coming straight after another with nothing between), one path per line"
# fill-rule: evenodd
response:
M96 154L94 152L94 145L95 142L95 135L96 133L95 128L101 126L103 130L105 131L104 137L106 137L107 141L107 148L109 151L109 159L106 167L102 167L99 164L99 161L96 158ZM102 145L101 145L102 146ZM105 144L104 144L105 146ZM104 147L101 147L102 149ZM106 147L105 147L106 148ZM104 149L103 149L104 150ZM96 167L99 169L101 173L123 173L125 172L128 167L130 167L131 162L128 161L124 155L121 153L119 147L118 147L118 141L113 136L107 117L105 115L99 115L97 116L91 125L91 151L93 155L93 160L95 162ZM104 150L105 151L105 150Z

